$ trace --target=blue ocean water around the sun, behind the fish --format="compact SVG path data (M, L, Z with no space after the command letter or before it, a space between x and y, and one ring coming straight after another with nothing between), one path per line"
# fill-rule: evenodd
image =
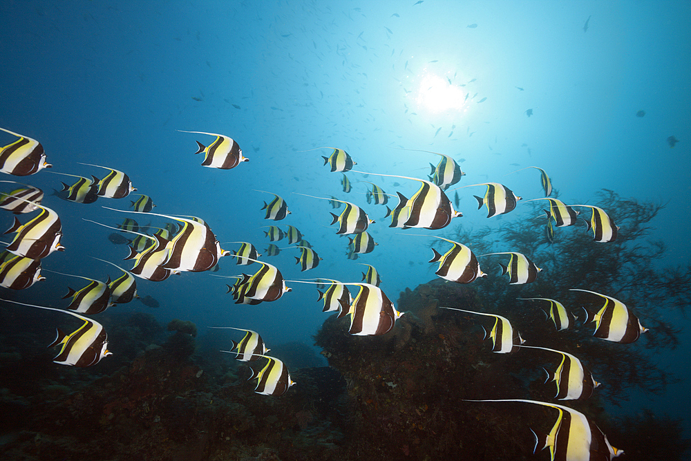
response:
M502 182L524 200L542 196L538 171L513 172L534 166L569 203L593 203L601 188L665 203L651 237L668 245L658 263L689 263L688 2L8 0L0 17L0 126L39 140L52 171L105 171L80 163L125 171L153 198L153 211L199 216L224 250L237 250L227 242L249 241L265 253L264 226L298 227L323 261L300 272L296 250L267 258L285 279L359 282L365 267L358 263L368 263L395 301L435 278L430 239L390 229L385 208L366 204L362 181L408 198L419 183L348 173L352 191L345 194L341 173L323 165L321 156L332 151L309 151L325 146L348 151L355 170L417 178L426 178L438 156L401 149L446 153L464 159L458 186ZM214 138L178 130L229 135L249 162L229 171L201 167L195 141ZM670 136L679 140L674 149ZM0 133L0 144L12 140ZM66 178L40 171L19 180L46 191L44 203L64 226L66 250L46 259L46 269L119 275L90 256L120 263L124 247L82 218L117 225L131 215L101 205L127 209L132 197L66 203L48 196ZM282 196L291 214L278 223L263 219L272 195L258 190ZM298 193L365 208L377 221L369 229L375 252L349 261L347 238L329 225L329 212L341 209ZM464 216L448 229L492 225L472 197L483 187L457 193ZM10 214L2 219L11 225ZM231 258L219 264L214 274L240 273ZM61 307L68 282L45 275L17 299ZM292 292L278 301L240 306L226 282L209 273L139 281L140 294L160 308L135 301L111 309L153 313L163 325L179 318L200 330L261 330L267 344L312 344L325 319L313 286L287 283ZM688 322L679 312L665 315L679 328ZM663 397L632 395L622 411L654 406L687 417L683 389L691 376L680 364L688 333L680 337L681 346L659 360L682 382Z

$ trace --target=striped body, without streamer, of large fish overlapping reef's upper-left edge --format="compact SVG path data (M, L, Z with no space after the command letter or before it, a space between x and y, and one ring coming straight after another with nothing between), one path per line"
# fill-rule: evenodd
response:
M401 317L393 303L381 289L363 283L358 285L360 292L350 305L351 335L384 335L389 332Z

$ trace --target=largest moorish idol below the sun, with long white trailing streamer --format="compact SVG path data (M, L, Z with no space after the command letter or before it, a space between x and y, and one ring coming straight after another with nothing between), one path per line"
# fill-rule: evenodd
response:
M403 205L405 197L400 193L399 204L392 212L392 223L389 227L400 227L403 222L403 228L408 227L424 227L425 229L442 229L451 223L452 218L463 216L460 211L455 211L448 200L444 191L433 182L424 179L410 178L408 176L398 176L390 174L379 173L365 173L363 171L354 171L355 173L373 174L375 176L386 176L388 178L403 178L417 182L422 182L422 185L413 197L406 201ZM404 209L406 212L404 213ZM396 215L396 211L398 214ZM408 217L407 220L402 221L401 214ZM388 216L388 215L387 215ZM394 226L396 220L396 226Z

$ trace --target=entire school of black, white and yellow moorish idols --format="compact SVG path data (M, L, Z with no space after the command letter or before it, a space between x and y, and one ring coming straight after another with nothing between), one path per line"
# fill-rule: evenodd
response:
M8 129L2 129L2 131L15 135L18 139L2 147L0 171L10 176L31 176L39 173L42 169L53 167L47 162L46 153L40 142ZM243 151L238 143L227 135L202 131L185 131L185 133L215 137L215 140L208 146L196 141L198 144L196 153L204 153L202 162L204 167L230 170L238 167L242 162L249 161L243 156ZM397 192L398 204L391 209L387 205L390 196L374 182L368 182L367 202L386 206L384 219L388 220L388 227L394 229L444 229L454 218L460 218L462 214L454 209L451 200L446 195L447 191L455 190L455 202L457 202L460 189L485 187L484 196L475 196L475 198L479 205L478 209L486 207L487 218L515 210L522 200L511 189L498 182L484 182L450 189L451 186L460 182L465 173L461 171L453 158L441 153L436 153L441 157L439 163L436 166L432 164L428 178L422 179L357 171L353 169L357 162L343 149L321 147L310 150L319 149L332 150L330 156L323 156L323 164L329 169L325 174L339 173L339 176L334 175L334 178L339 178L344 193L348 193L351 189L350 180L345 173L393 177L419 183L419 189L410 198ZM96 176L84 178L70 173L58 173L63 176L78 178L72 185L62 182L63 188L60 191L60 198L75 203L93 203L97 198L126 198L137 190L133 187L129 176L122 171L95 164L88 164L88 166L106 169L108 173L102 179ZM591 216L585 222L594 241L607 244L616 240L618 227L605 210L593 205L567 205L556 198L550 198L552 186L547 172L538 167L532 168L540 171L540 182L545 193L545 197L532 200L547 200L549 203L549 209L545 209L545 226L548 229L548 236L554 232L553 227L576 225L579 211L574 208L586 207L590 209ZM234 173L241 174L240 171L229 174ZM10 243L6 243L6 248L0 256L0 286L10 290L26 290L38 281L45 279L45 276L41 274L42 260L55 251L65 251L64 246L60 243L61 221L55 211L43 204L44 193L40 189L18 181L5 180L3 183L12 184L13 189L2 194L0 207L15 215L25 215L27 218L26 222L22 224L19 218L15 216L14 224L5 232L5 234L15 234L15 236ZM263 218L265 220L280 221L292 213L284 198L271 191L261 192L273 196L272 199L263 203L261 209L257 207L260 213L264 211ZM331 225L337 225L335 227L336 234L348 236L348 259L357 259L359 254L366 254L375 250L377 244L366 231L370 225L376 223L363 208L356 203L334 197L308 197L315 200L326 200L332 209L339 209L343 206L343 211L340 214L331 213ZM111 261L104 261L122 271L122 276L119 278L114 281L108 278L108 281L103 283L84 276L62 274L88 281L86 286L79 290L68 289L64 299L70 299L70 303L65 309L3 299L3 301L30 308L62 312L84 321L82 326L68 334L57 328L57 337L48 346L59 347L59 352L53 360L56 364L77 367L95 366L105 357L117 353L117 345L113 345L115 352L108 348L108 337L104 327L91 316L104 312L109 306L117 303L128 303L138 297L137 279L161 282L168 279L171 274L180 272L217 270L218 261L224 256L236 258L236 265L240 267L254 263L259 266L259 269L253 274L243 272L240 275L225 277L235 279L234 283L227 284L227 292L232 294L235 303L238 304L256 305L276 301L291 291L287 283L312 283L317 285L319 301L323 302L323 312L337 312L339 319L349 317L350 328L348 332L350 335L386 335L394 328L397 319L404 314L395 308L387 294L379 288L381 278L372 265L365 264L367 269L363 272L361 281L338 281L323 276L313 279L285 280L278 267L260 259L262 255L253 243L231 242L232 244L239 244L238 249L234 251L223 250L216 234L202 218L153 213L154 206L151 197L140 194L136 200L131 201L132 209L104 207L113 214L146 214L166 221L162 227L144 228L138 226L133 218L124 218L117 229L131 234L133 237L129 241L129 254L124 255L124 260L131 260L132 265L129 269L125 269ZM37 214L33 216L35 212ZM298 213L296 211L296 214ZM329 216L326 211L324 218L328 221ZM84 220L93 223L93 225L104 225L86 218ZM269 225L267 228L268 230L264 232L265 237L272 243L269 243L265 251L266 256L275 256L281 250L296 249L299 250L300 254L300 256L295 257L296 264L299 265L301 271L315 270L319 267L319 261L321 261L319 254L303 238L297 227L288 225L286 229L281 229L278 225ZM151 232L152 229L155 229L155 232ZM540 267L533 263L529 256L520 252L496 252L477 256L471 248L463 243L441 236L432 237L451 244L451 247L444 254L432 249L433 257L429 261L429 263L439 263L435 274L446 281L472 283L478 278L487 277L487 274L482 272L479 261L493 261L502 257L505 261L505 263L500 263L502 276L508 275L508 283L511 285L529 284L535 281L540 274ZM291 246L278 247L274 243L284 238L287 238L288 245ZM507 256L508 261L506 261ZM45 270L45 272L52 271ZM357 294L351 292L355 289L357 289ZM601 304L596 311L584 308L586 312L585 323L594 323L594 337L620 344L630 344L636 341L641 333L647 331L647 328L644 328L638 321L634 312L621 301L607 294L591 290L580 288L571 290L585 292L594 299L594 303ZM574 314L568 312L565 306L555 299L525 297L520 298L520 300L538 302L543 305L548 319L553 322L557 330L565 330L574 325L576 320ZM507 353L516 348L528 348L560 355L561 361L556 370L545 370L547 373L546 382L556 384L554 398L559 401L587 399L599 385L578 357L552 348L525 345L526 341L518 334L511 321L505 317L491 312L475 312L444 306L440 306L440 308L475 314L480 323L482 323L480 318L483 317L493 319L491 328L485 329L483 326L485 338L489 338L492 342L493 352ZM228 328L245 332L240 341L233 341L231 350L221 352L233 353L238 361L243 362L266 360L263 368L252 368L252 377L249 379L257 379L256 393L272 396L283 395L289 391L291 386L296 384L292 381L290 372L283 361L278 357L267 355L270 350L259 332L237 326L212 328ZM565 405L528 399L473 400L471 402L524 402L555 409L558 417L551 431L548 434L534 433L536 438L535 451L549 447L552 460L611 460L623 453L622 450L609 444L607 436L598 429L594 421L589 420L583 413Z

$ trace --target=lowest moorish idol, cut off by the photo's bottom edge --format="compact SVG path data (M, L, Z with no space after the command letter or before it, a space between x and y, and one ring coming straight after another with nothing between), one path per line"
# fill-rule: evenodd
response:
M549 434L538 434L531 429L535 435L533 453L549 446L551 461L611 461L612 458L624 453L623 450L609 444L607 435L600 431L594 422L589 421L580 411L572 410L567 406L524 399L466 400L466 402L524 402L551 406L559 411L559 416Z

